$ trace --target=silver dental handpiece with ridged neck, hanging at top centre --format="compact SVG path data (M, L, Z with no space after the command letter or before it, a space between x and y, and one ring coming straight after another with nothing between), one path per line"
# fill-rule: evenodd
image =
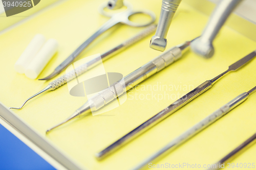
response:
M173 20L180 2L181 0L163 0L157 31L150 41L151 48L161 52L165 50L167 44L166 36L170 23Z

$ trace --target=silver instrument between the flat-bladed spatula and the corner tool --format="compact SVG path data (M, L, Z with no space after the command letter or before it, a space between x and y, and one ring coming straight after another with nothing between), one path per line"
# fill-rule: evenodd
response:
M248 92L244 92L242 94L240 94L239 96L237 96L236 98L234 98L232 101L230 101L229 103L225 104L224 106L222 106L220 109L216 110L214 113L210 114L209 116L207 116L206 118L204 118L203 120L201 120L201 122L199 122L198 124L196 124L195 126L193 126L192 128L188 129L186 132L184 132L182 135L180 135L179 137L177 137L176 139L172 140L171 142L169 142L167 145L165 145L165 147L163 147L160 151L156 152L155 154L153 154L152 156L148 157L147 159L145 159L142 163L140 163L138 166L136 166L135 168L133 168L133 170L138 170L141 169L142 167L144 167L147 163L153 161L154 159L156 159L157 157L159 157L160 155L162 155L163 153L166 153L167 151L173 151L175 150L180 144L184 143L185 141L187 141L188 139L190 139L191 137L197 135L199 132L201 132L202 130L204 130L205 128L207 128L208 126L210 126L211 124L215 123L218 119L220 119L221 117L223 117L224 115L226 115L229 111L231 111L233 108L237 107L238 105L240 105L241 103L243 103L248 96L256 89L256 87L252 88L250 91ZM218 163L219 165L219 163Z

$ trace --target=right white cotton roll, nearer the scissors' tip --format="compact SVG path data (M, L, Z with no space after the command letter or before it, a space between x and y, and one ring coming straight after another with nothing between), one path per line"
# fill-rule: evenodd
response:
M41 47L35 58L29 63L28 68L25 70L25 75L30 79L36 79L56 53L57 48L58 42L55 39L49 39L44 46Z

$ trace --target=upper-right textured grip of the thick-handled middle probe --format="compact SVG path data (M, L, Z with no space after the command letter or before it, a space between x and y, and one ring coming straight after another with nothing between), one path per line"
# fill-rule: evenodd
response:
M162 55L154 58L151 62L157 67L157 72L164 69L174 61L178 60L182 56L182 51L179 47L170 48L170 50L164 52Z

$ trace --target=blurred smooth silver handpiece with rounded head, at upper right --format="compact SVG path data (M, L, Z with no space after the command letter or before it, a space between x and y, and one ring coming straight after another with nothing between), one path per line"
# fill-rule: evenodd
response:
M212 41L214 41L230 13L240 2L242 0L221 0L214 12L212 12L201 37L191 43L191 50L205 58L212 57L214 55Z

